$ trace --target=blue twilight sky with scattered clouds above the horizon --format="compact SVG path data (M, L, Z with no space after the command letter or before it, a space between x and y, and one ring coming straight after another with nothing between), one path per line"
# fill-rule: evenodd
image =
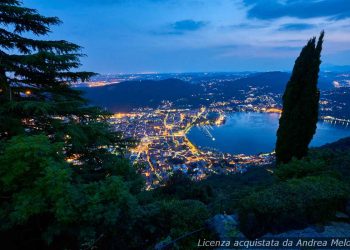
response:
M350 0L23 0L63 24L99 73L291 70L326 31L323 62L350 65Z

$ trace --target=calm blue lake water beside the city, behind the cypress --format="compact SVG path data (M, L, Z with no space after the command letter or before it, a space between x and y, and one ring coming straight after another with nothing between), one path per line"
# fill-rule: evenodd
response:
M279 114L232 113L221 126L193 127L189 140L200 147L232 154L258 154L275 148ZM321 146L350 136L349 127L319 122L311 146ZM213 140L213 138L215 138Z

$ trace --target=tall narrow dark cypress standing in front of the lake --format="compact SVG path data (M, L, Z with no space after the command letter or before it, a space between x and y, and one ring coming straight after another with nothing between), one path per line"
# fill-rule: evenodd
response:
M308 41L295 61L292 76L283 95L283 112L276 142L278 163L307 155L316 132L320 93L317 88L324 32Z

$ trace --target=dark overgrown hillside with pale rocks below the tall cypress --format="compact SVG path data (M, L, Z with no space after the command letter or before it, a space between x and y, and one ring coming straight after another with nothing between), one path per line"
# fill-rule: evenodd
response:
M213 227L221 235L220 225L230 219L225 214L234 218L238 214L239 225L235 223L230 231L241 231L247 237L281 233L286 233L281 236L293 236L293 232L299 233L298 237L310 236L309 233L321 237L329 230L333 230L330 232L333 237L342 235L343 228L350 225L349 156L350 137L312 148L308 158L278 169L270 166L266 171L252 167L239 176L219 175L204 180L201 185L212 187L215 194L209 206L214 213L224 214L214 217ZM342 192L343 197L338 196ZM314 232L314 225L325 234ZM225 237L227 232L221 235Z

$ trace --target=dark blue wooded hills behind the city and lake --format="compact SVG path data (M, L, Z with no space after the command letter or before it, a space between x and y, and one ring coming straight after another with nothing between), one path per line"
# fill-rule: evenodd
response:
M93 104L105 107L113 112L129 111L139 107L158 107L163 101L176 103L177 106L197 107L220 97L227 100L248 91L251 87L263 89L265 93L283 93L290 73L265 72L251 73L232 78L213 76L212 78L184 81L175 78L165 80L125 81L103 87L80 88L85 97ZM333 74L321 74L319 88L334 88Z

